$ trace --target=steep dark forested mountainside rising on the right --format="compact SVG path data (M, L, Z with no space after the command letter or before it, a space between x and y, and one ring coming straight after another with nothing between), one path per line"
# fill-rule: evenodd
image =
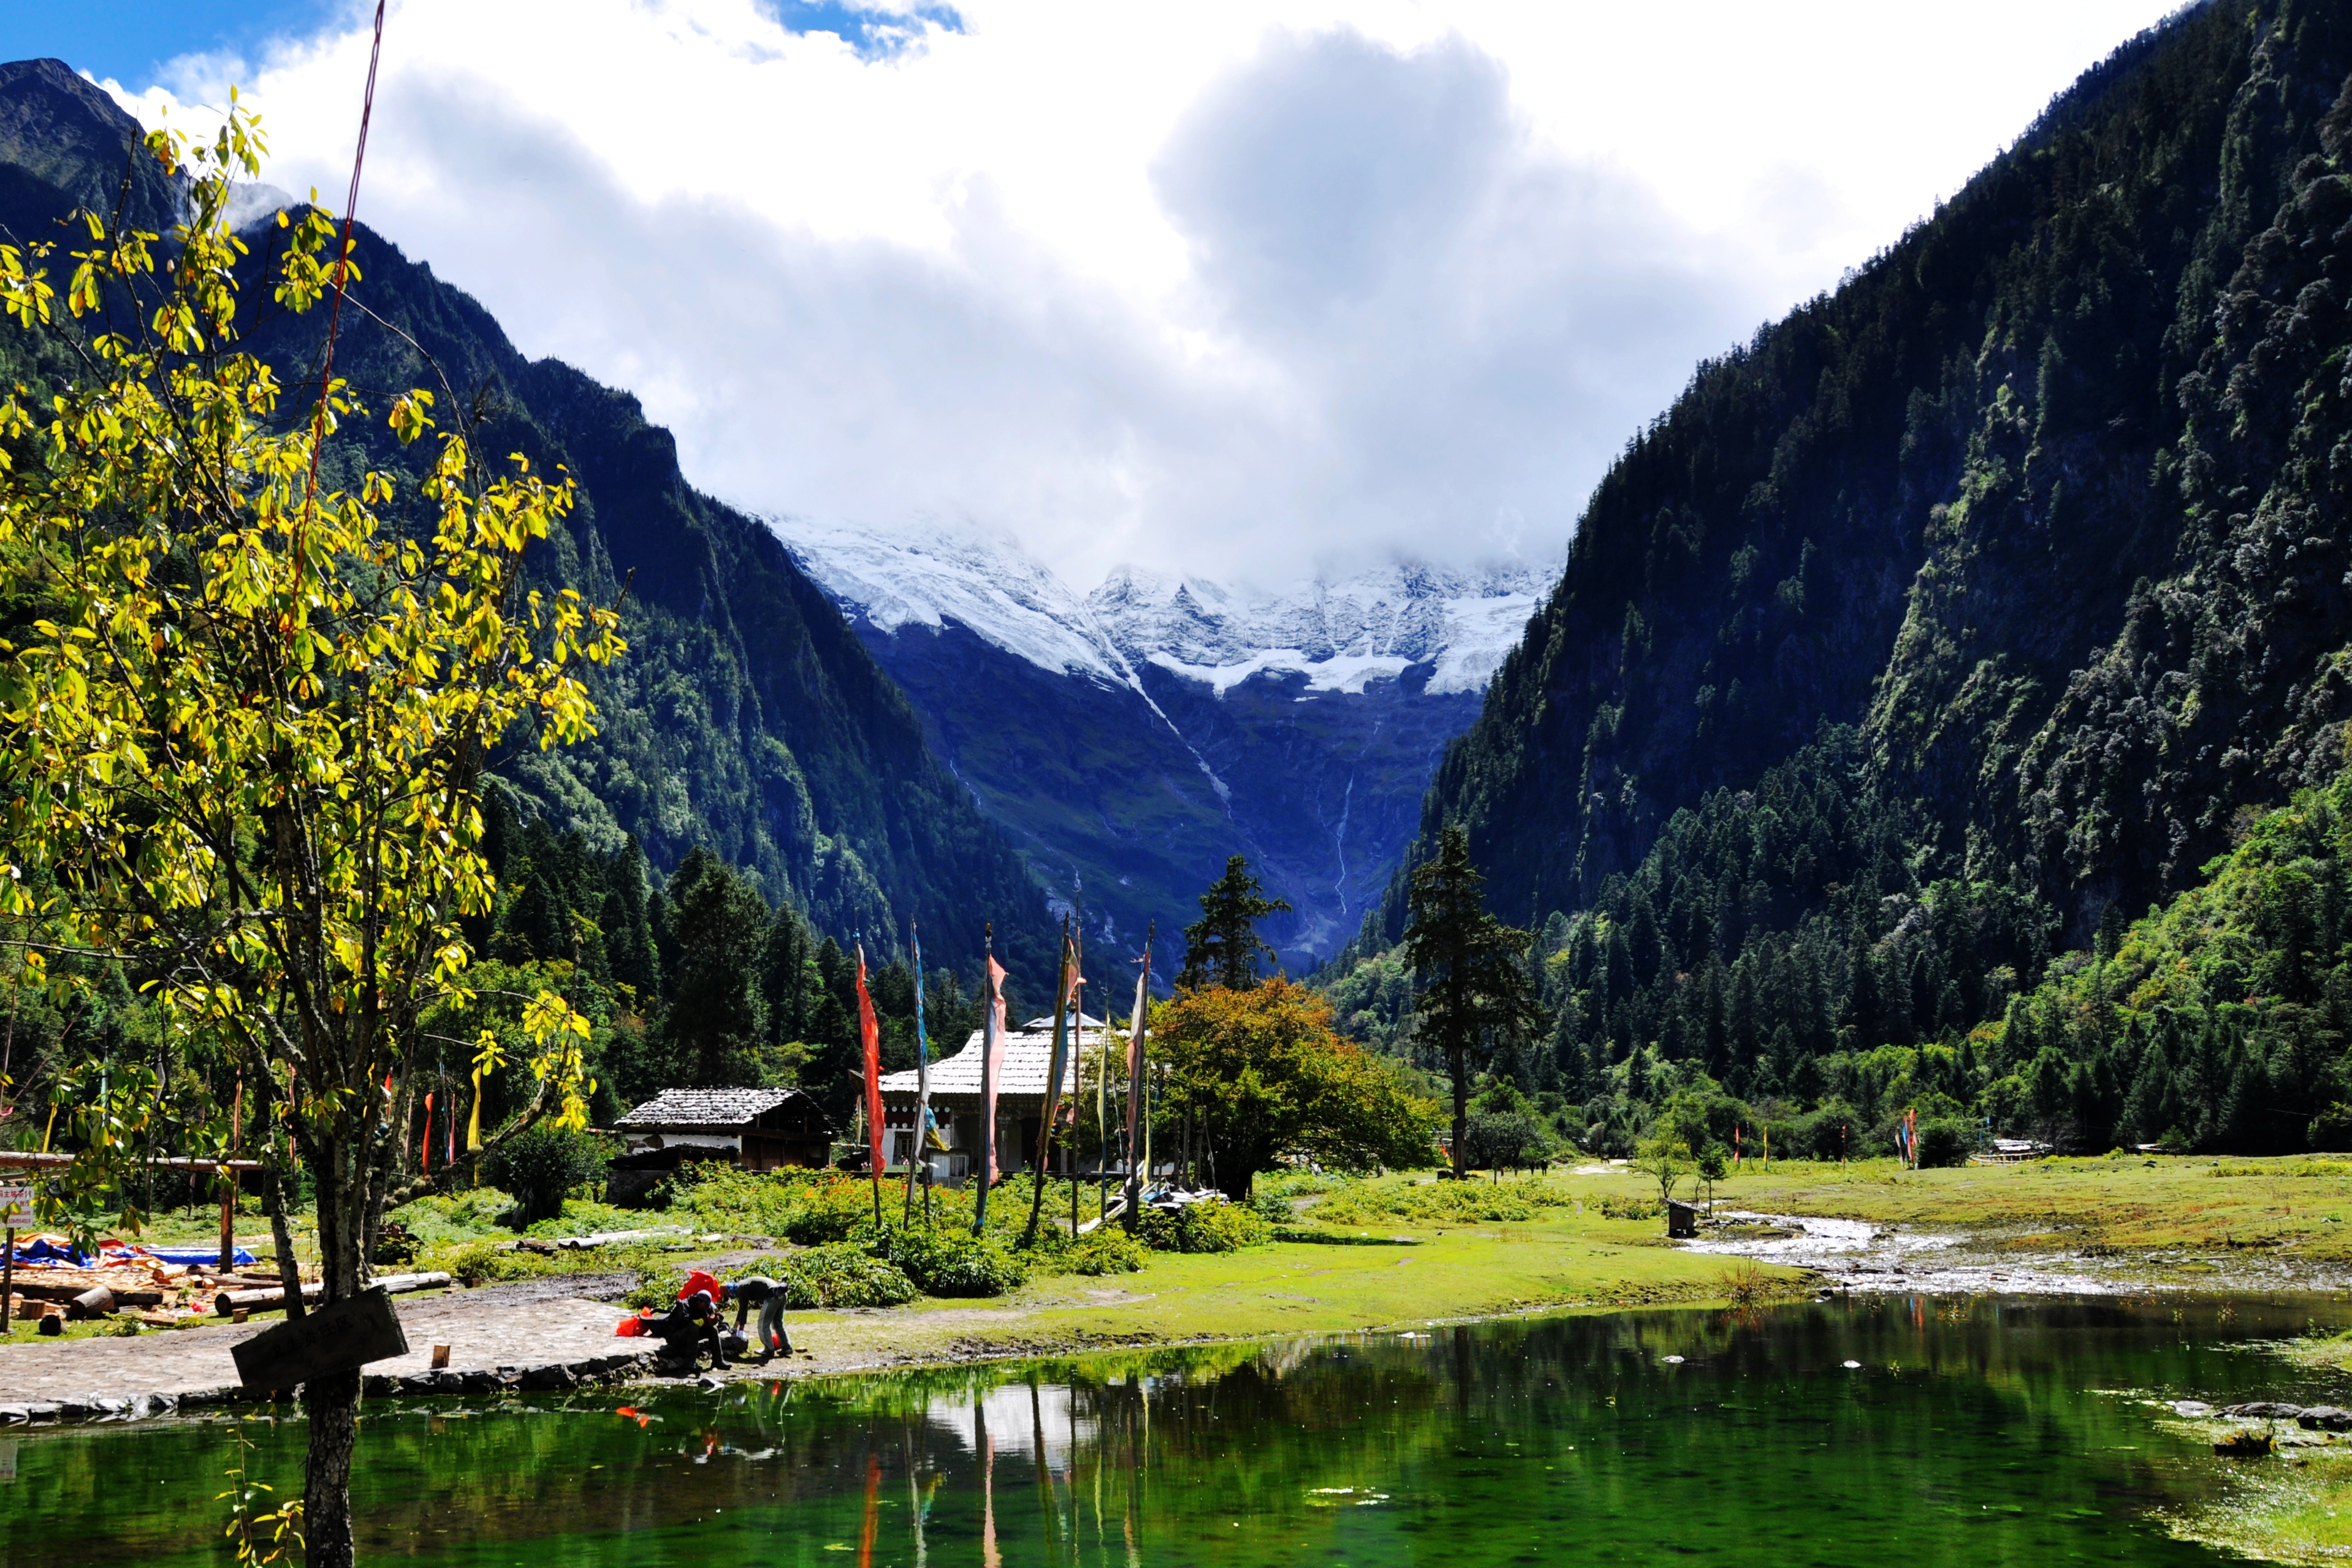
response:
M2347 71L2352 7L2166 21L1635 437L1416 846L1465 825L1543 926L1529 1072L1613 1093L1656 1041L1806 1100L1973 1041L1976 1088L2044 1048L2133 1079L2145 1037L2013 999L2345 757ZM2291 1147L2331 1074L2204 1135ZM2077 1112L2037 1114L2147 1131Z

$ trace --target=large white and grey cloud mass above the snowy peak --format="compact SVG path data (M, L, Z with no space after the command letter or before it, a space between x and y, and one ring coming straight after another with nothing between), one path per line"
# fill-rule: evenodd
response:
M760 0L400 0L360 216L706 489L1087 585L1557 552L1693 360L2164 7L889 9L861 54ZM362 19L118 92L240 80L339 200Z

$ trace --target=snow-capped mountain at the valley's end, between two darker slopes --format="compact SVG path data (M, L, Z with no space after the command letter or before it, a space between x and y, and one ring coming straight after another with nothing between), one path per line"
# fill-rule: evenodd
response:
M1388 567L1258 592L1115 571L1077 595L1007 538L774 524L1096 940L1160 926L1247 853L1294 964L1378 896L1439 748L1548 574Z

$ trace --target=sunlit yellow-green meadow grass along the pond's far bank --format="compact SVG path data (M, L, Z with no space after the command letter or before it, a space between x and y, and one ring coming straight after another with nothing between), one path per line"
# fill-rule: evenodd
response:
M1152 1253L1138 1274L1044 1274L993 1300L793 1314L814 1366L875 1366L1096 1345L1155 1345L1279 1333L1402 1328L1534 1309L1613 1309L1755 1298L1804 1288L1785 1269L1672 1248L1653 1180L1623 1166L1555 1168L1501 1182L1287 1178L1289 1234L1242 1253ZM1689 1192L1686 1187L1682 1190ZM2230 1260L2312 1265L2352 1258L2352 1161L2046 1159L2020 1166L1903 1171L1893 1161L1818 1166L1750 1161L1715 1190L1719 1208L1872 1220L1969 1232L2020 1253L2159 1255L2166 1276ZM1058 1206L1049 1206L1054 1211ZM412 1267L499 1281L567 1272L677 1267L734 1244L673 1239L536 1255L515 1251L506 1199L466 1192L400 1211L421 1241ZM748 1218L748 1215L743 1215ZM574 1201L536 1234L684 1222L694 1237L753 1232L727 1213L642 1213ZM259 1234L256 1234L259 1232ZM148 1234L216 1234L216 1215L162 1215ZM256 1218L240 1239L268 1246ZM2185 1258L2187 1255L2187 1258Z

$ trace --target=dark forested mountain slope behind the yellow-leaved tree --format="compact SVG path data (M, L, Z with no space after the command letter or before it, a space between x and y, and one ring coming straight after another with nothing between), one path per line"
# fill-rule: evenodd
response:
M139 127L59 61L0 66L0 223L14 240L68 240L78 207L169 230L176 190L134 158ZM261 282L273 205L247 242L247 348L306 418L325 310L270 308ZM343 310L336 374L374 409L348 421L322 482L365 465L414 473L430 444L388 440L381 409L421 386L445 430L499 463L524 454L581 489L569 529L534 559L550 585L623 602L630 654L593 672L602 736L564 752L508 743L501 778L524 811L579 830L595 853L635 835L656 872L694 846L743 867L767 898L840 938L898 954L920 919L938 961L971 964L983 922L1035 973L1051 964L1044 898L1002 835L931 757L906 696L826 595L760 522L694 491L670 435L635 397L553 360L524 360L470 296L360 226L360 280ZM52 263L54 266L54 263ZM12 367L73 374L71 364ZM306 390L308 388L308 390ZM414 494L414 491L412 491ZM593 914L590 914L593 917Z

